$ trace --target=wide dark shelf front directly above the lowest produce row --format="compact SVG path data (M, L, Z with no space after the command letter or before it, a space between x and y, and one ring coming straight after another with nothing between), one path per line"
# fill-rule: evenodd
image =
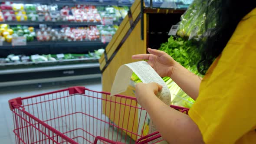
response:
M10 43L3 42L0 46L0 57L10 54L31 56L34 54L59 54L59 53L88 53L97 49L105 49L108 43L101 41L56 41L56 42L27 42L26 46L12 46Z

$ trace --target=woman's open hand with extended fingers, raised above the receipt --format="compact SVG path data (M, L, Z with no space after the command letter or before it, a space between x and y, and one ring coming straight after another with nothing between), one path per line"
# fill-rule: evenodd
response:
M138 54L133 55L132 59L147 59L148 64L160 75L161 77L169 76L171 77L174 69L174 65L177 63L171 56L167 53L148 48L150 54Z

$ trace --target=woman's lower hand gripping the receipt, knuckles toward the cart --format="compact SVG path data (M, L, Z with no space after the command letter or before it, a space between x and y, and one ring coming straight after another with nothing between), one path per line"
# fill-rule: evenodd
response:
M159 85L156 82L144 84L138 83L135 85L135 96L138 103L144 108L147 101L156 98L156 94L161 91L163 88L162 85Z

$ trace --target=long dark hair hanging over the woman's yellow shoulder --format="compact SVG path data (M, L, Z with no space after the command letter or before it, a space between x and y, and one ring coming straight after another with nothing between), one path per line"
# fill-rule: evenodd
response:
M201 44L201 60L197 64L197 69L201 74L205 74L213 60L220 55L236 29L240 20L256 7L255 0L208 0L206 12L205 29L209 35ZM216 27L208 29L208 24L213 20L212 13L208 13L209 4L216 8Z

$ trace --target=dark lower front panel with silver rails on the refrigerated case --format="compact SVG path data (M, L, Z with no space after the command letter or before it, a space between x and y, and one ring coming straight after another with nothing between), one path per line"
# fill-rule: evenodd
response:
M101 75L98 62L33 66L35 65L31 65L30 68L0 70L0 87L23 84L24 82L27 84L56 82L75 80L76 78L85 79L85 75L97 75L97 77Z

